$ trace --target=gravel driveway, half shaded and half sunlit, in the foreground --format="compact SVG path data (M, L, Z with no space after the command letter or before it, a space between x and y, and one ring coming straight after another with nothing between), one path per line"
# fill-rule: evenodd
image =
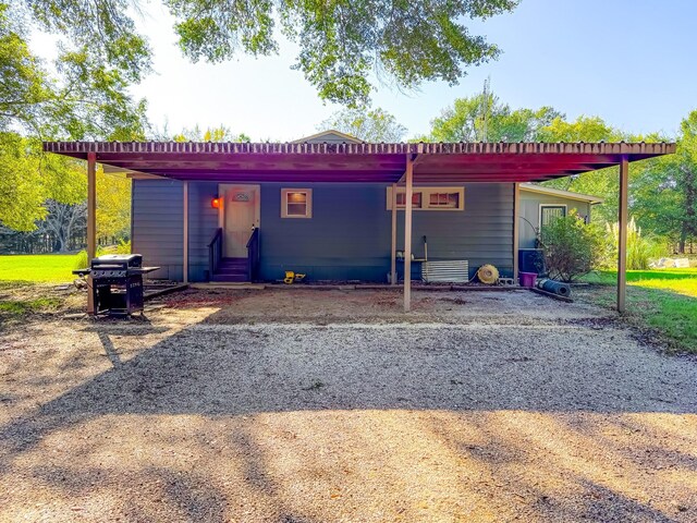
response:
M528 292L187 291L0 333L1 521L697 521L697 362Z

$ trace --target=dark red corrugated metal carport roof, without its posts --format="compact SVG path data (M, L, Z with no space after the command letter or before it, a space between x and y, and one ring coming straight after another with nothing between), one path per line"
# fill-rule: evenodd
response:
M533 182L672 154L670 143L45 142L44 150L130 172L219 182Z

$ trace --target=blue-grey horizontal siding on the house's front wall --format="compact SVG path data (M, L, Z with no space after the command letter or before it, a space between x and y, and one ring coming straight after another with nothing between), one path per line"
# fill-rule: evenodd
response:
M313 188L313 218L282 219L282 187ZM390 270L391 211L386 185L261 184L261 278L279 280L284 270L313 280L386 281ZM189 182L189 279L204 281L208 242L218 227L210 207L213 182ZM133 246L155 277L182 279L181 182L136 180L133 186ZM404 212L398 214L398 248L403 248ZM493 264L513 270L513 185L465 185L464 211L414 211L413 251L429 259L467 259L470 272ZM472 276L470 273L470 276Z

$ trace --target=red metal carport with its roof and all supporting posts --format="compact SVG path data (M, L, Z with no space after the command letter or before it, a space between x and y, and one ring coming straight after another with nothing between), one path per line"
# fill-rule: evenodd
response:
M188 182L362 182L392 184L392 266L396 284L396 187L405 187L404 273L411 273L414 185L513 183L514 217L518 184L619 166L617 311L625 309L628 163L675 151L667 143L178 143L47 142L44 150L87 161L87 254L96 252L96 165L130 177L183 182L184 278L188 264ZM517 221L513 220L513 264L517 278ZM411 280L404 278L404 311L411 308Z

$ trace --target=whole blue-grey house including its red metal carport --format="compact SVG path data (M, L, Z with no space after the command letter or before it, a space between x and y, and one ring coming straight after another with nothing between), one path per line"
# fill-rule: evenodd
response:
M535 209L536 200L570 209L585 197L524 184L620 166L626 219L628 162L675 146L370 144L331 131L281 144L50 142L44 148L87 160L88 253L96 245L100 162L133 180L133 251L161 267L156 277L277 281L293 270L311 280L395 283L398 273L418 277L426 258L466 262L468 277L492 264L515 278L517 250L529 242L518 216L535 224L528 206Z

